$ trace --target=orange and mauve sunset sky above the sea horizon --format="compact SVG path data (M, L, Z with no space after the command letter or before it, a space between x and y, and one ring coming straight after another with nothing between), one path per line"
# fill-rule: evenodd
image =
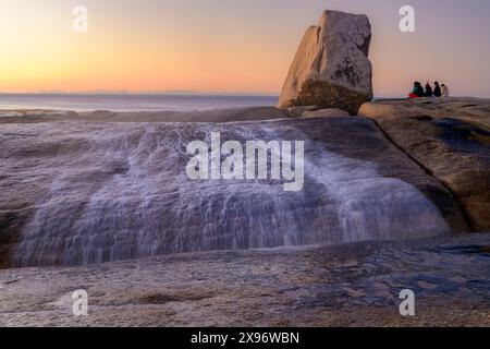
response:
M76 4L86 34L72 31ZM417 33L399 31L404 4ZM490 97L488 0L0 0L0 92L279 94L324 9L369 15L375 95L439 80Z

